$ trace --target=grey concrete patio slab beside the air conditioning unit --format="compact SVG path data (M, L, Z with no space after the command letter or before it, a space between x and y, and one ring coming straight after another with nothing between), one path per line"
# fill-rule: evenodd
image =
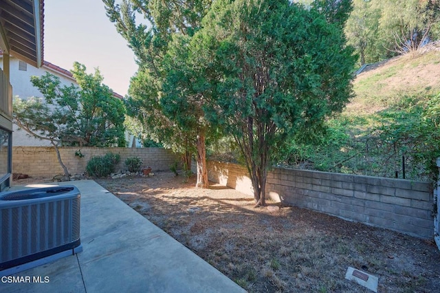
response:
M51 185L66 184L81 193L83 252L14 275L47 283L0 292L245 292L93 180Z

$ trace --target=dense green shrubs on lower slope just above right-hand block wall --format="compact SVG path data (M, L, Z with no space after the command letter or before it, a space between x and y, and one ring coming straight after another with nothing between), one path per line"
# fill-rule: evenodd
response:
M430 181L440 156L440 95L399 96L386 109L328 120L315 144L289 142L278 164L301 169Z

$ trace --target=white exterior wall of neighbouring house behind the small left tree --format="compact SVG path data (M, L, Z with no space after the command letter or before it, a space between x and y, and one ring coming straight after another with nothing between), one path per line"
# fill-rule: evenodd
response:
M2 56L0 56L2 57ZM0 65L2 63L0 62ZM31 76L43 76L46 72L54 74L60 78L63 85L72 85L76 82L74 79L64 76L48 67L36 68L27 64L26 71L19 70L19 59L10 57L10 83L14 88L14 97L19 96L21 99L30 98L32 96L43 98L43 94L36 89L30 82ZM22 129L19 129L17 124L13 124L12 129L12 145L13 146L50 146L49 140L39 140L34 138Z

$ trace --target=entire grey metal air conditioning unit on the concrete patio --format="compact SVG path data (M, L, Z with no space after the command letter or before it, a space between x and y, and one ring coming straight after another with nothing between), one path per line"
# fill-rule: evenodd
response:
M0 236L0 275L80 252L78 188L53 186L0 193ZM51 259L55 255L59 257Z

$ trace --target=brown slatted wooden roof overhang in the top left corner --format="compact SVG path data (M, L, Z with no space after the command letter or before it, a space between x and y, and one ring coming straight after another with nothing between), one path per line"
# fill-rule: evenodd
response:
M0 0L0 49L43 65L44 0Z

